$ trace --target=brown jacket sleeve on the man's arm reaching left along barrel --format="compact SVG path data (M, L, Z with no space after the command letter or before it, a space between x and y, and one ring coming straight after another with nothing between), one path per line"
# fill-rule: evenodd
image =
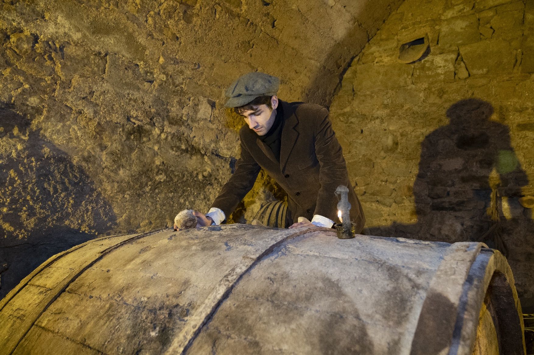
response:
M241 156L235 164L235 172L226 182L211 207L222 209L226 218L234 211L235 207L252 189L254 182L260 173L261 167L250 155L241 138Z

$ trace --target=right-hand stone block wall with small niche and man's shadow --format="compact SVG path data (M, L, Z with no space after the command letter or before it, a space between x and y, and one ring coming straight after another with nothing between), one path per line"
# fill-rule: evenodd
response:
M482 240L507 252L530 305L533 28L532 1L406 0L331 106L367 233ZM429 51L400 62L425 36Z

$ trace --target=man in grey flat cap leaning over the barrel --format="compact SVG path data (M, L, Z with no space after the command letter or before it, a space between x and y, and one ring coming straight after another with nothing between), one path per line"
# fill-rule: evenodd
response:
M278 87L278 78L250 72L226 90L229 99L225 106L234 108L246 123L239 133L241 157L209 212L194 213L198 225L223 222L252 189L263 168L287 192L289 228L312 224L331 228L337 219L334 191L345 185L349 188L351 221L359 233L365 217L349 182L328 110L316 104L279 100ZM300 216L308 221L296 222Z

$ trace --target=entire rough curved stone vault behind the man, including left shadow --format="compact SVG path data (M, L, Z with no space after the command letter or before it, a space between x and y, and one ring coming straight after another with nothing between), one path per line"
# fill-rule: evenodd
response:
M399 3L0 1L0 297L98 233L205 211L239 156L225 88L260 70L282 99L329 104ZM234 220L281 196L269 182Z

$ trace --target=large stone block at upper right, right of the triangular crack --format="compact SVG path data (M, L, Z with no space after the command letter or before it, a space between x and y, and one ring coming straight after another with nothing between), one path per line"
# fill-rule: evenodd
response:
M471 75L511 73L515 64L515 51L502 39L460 46L460 54Z

